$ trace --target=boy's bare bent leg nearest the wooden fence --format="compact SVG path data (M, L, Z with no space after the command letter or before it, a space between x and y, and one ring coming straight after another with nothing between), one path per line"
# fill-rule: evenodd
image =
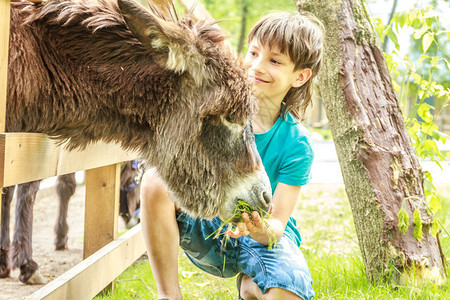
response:
M182 299L178 282L179 232L175 205L158 174L147 171L141 183L141 223L158 297Z

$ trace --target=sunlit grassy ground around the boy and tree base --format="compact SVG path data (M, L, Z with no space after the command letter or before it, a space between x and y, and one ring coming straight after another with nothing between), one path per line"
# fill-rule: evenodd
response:
M450 229L450 186L441 187L439 218ZM295 211L302 251L314 280L314 299L450 299L447 286L369 284L364 273L350 206L343 185L309 185ZM450 237L441 234L450 257ZM235 278L220 279L194 267L180 251L179 276L184 299L237 299ZM149 264L140 260L117 280L113 293L96 299L157 299Z

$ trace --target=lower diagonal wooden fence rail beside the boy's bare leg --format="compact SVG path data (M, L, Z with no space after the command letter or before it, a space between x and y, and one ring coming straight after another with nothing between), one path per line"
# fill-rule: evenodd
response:
M144 253L138 224L25 299L92 299Z

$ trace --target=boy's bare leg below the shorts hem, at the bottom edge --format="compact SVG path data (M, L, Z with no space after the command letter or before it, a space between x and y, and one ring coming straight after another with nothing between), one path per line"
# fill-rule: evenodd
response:
M263 295L261 290L259 289L258 285L253 282L252 278L248 275L244 274L244 277L242 277L242 283L241 283L241 297L244 300L253 300L253 299L302 299L296 294L280 289L280 288L270 288L267 290L267 292Z

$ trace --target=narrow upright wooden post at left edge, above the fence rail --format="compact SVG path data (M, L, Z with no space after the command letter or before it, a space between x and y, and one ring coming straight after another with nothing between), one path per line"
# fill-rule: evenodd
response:
M0 0L0 132L5 132L10 0Z

